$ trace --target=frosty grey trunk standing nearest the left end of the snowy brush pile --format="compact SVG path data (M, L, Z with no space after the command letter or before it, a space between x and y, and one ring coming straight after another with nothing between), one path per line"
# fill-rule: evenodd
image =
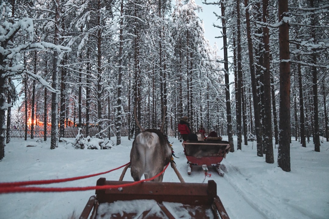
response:
M55 34L54 34L54 44L58 45L60 37L60 0L55 0ZM53 57L53 83L52 88L58 90L58 52L54 50ZM55 149L58 147L58 96L57 93L52 93L51 98L51 142L50 149Z

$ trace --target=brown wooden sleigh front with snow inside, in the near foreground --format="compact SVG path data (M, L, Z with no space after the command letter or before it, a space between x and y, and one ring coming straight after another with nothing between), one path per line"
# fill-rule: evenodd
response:
M131 182L100 178L97 186ZM217 196L216 183L143 182L120 189L96 190L80 219L216 218L229 219Z

